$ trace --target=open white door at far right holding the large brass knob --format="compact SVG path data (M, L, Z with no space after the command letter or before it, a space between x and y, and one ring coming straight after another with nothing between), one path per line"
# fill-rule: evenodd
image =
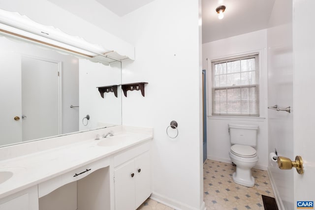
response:
M315 20L313 8L314 0L293 0L293 151L305 166L303 175L294 171L294 209L297 201L315 201L315 28L309 25Z

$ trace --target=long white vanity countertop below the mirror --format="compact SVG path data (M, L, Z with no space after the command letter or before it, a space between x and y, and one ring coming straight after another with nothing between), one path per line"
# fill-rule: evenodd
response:
M11 171L13 176L0 184L0 198L58 177L114 153L153 138L151 134L121 132L100 140L89 139L51 150L43 150L0 161L0 172ZM110 146L97 144L110 143ZM111 142L109 142L111 141ZM113 141L115 141L113 143ZM117 144L115 144L117 142Z

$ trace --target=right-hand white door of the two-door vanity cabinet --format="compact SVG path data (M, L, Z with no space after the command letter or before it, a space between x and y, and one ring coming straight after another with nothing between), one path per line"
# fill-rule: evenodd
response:
M152 193L151 189L151 173L150 173L150 153L137 156L135 163L135 195L136 208L138 208Z

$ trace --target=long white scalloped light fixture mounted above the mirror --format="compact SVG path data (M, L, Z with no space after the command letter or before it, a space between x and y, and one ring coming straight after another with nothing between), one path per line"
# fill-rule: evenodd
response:
M106 55L113 51L91 44L78 36L71 36L59 29L38 24L16 12L0 9L0 35L28 40L42 46L78 54L108 64L120 61ZM108 61L110 60L110 61ZM108 62L107 62L108 61ZM104 63L105 64L105 63Z

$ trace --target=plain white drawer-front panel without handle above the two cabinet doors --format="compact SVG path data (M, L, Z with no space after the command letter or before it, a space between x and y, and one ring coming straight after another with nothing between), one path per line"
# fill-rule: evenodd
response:
M143 152L150 150L150 147L151 141L116 155L114 157L114 167L117 167L122 163L134 158L135 156L138 156Z

